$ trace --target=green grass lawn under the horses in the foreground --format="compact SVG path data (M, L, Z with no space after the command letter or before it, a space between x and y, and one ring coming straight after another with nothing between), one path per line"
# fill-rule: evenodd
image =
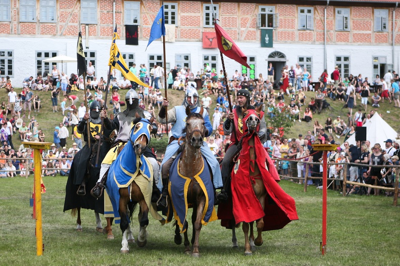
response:
M93 211L82 211L83 232L76 218L63 213L66 177L44 177L42 195L43 256L36 256L35 221L29 207L33 178L1 179L0 265L397 265L400 212L391 197L352 195L328 191L327 254L321 255L322 191L308 192L289 181L282 188L296 201L299 220L282 230L263 233L264 245L245 257L243 232L237 229L238 249L231 247L231 232L219 221L204 226L200 258L183 254L174 244L174 228L150 218L147 245L130 244L130 254L120 254L122 235L114 226L115 240L95 231ZM137 210L133 215L136 217ZM103 225L106 225L103 219ZM191 227L190 227L191 228ZM132 223L137 238L138 223ZM191 229L190 231L191 232ZM191 233L189 233L190 237Z

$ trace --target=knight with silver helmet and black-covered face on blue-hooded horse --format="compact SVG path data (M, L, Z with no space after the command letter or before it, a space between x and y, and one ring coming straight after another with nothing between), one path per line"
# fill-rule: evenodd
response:
M101 165L100 175L97 180L97 184L93 187L91 191L92 196L95 198L98 198L103 194L104 185L107 181L106 173L109 170L112 162L117 157L120 148L123 147L129 139L132 121L135 120L135 114L137 113L140 117L146 119L149 119L152 116L147 111L143 111L143 109L139 108L139 95L134 89L130 89L126 93L125 101L127 106L126 110L118 113L113 120L107 118L106 111L102 111L101 113L101 117L104 118L104 127L110 130L118 130L118 137L116 138L114 145L108 151L106 157L104 158ZM152 127L152 133L157 133L157 126L153 124ZM146 150L144 151L144 156L148 159L149 162L151 162L153 166L155 184L158 184L160 178L160 167L157 163L156 156L148 147L146 147ZM155 189L154 191L158 192L159 195L159 190Z

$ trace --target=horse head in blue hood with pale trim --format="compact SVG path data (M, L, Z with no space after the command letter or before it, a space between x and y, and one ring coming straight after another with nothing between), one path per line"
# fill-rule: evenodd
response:
M154 117L147 120L141 118L137 113L135 116L136 119L132 122L133 126L129 134L129 141L135 149L136 155L140 156L150 143Z

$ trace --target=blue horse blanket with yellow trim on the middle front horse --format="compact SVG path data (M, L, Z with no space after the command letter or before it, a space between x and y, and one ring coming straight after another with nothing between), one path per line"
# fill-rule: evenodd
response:
M190 181L197 182L204 194L206 195L206 205L204 207L202 215L202 224L207 225L209 222L217 220L217 214L214 207L214 189L213 182L211 180L210 168L207 164L207 160L203 158L203 168L194 177L182 176L179 172L179 161L181 153L177 156L175 161L172 163L169 175L169 194L172 202L172 208L174 210L174 218L178 223L181 233L184 233L187 228L185 226L187 209L189 204L187 202L187 191L189 190ZM200 163L200 162L199 162ZM171 220L167 221L170 222Z

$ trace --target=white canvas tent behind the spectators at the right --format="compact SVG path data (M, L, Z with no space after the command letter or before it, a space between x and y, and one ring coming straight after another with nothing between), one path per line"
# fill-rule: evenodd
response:
M371 120L363 125L367 128L367 140L371 142L371 146L375 143L379 143L381 147L385 147L384 141L391 139L393 142L397 137L397 132L387 124L378 113L371 118ZM349 145L356 145L356 134L353 134L347 140ZM343 143L340 148L344 148Z

